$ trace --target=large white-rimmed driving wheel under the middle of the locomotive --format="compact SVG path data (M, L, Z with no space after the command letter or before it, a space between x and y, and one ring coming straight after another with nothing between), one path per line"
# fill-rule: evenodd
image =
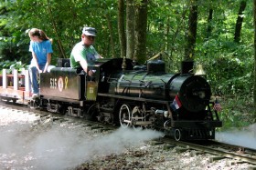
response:
M131 125L131 107L123 104L119 111L119 122L123 128Z

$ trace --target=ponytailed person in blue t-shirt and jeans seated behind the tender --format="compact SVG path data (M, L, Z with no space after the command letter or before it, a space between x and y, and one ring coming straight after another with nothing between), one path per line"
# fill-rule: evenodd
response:
M31 64L29 65L29 75L32 84L32 98L36 98L39 93L37 73L48 72L52 51L51 39L40 29L32 28L28 35L30 37L29 51L32 53Z

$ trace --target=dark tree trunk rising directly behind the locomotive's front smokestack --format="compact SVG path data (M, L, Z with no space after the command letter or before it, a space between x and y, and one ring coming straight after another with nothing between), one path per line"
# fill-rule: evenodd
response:
M194 60L197 38L197 0L191 0L190 14L188 17L187 45L185 47L185 60Z

